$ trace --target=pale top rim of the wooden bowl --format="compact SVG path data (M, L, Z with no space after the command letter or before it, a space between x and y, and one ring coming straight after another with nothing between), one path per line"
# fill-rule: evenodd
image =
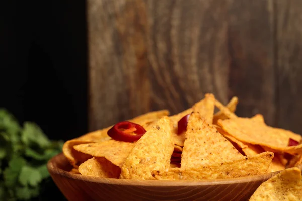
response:
M135 179L114 179L114 178L100 178L94 176L86 176L81 174L73 174L68 171L65 171L58 167L56 160L67 160L63 153L59 153L56 156L52 157L47 162L47 169L50 175L60 175L62 177L67 177L69 179L81 180L85 182L94 182L94 183L103 183L103 184L114 184L114 185L130 185L130 186L165 186L165 187L173 187L173 186L214 186L214 185L229 185L229 184L244 184L249 182L264 182L274 176L275 174L281 172L271 172L262 175L256 176L247 176L240 178L230 178L230 179L214 179L214 180L187 180L187 181L174 181L174 180L135 180ZM298 166L302 169L302 166Z

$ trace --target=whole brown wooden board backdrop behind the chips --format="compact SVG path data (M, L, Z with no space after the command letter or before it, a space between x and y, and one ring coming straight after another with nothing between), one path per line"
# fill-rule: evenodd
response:
M301 0L88 0L89 130L212 92L302 133Z

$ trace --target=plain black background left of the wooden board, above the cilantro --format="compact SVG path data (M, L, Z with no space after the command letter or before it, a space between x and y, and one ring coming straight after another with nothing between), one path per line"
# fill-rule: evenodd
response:
M84 134L85 1L5 1L0 27L0 108L20 123L36 122L53 140ZM54 184L47 186L39 200L64 200Z

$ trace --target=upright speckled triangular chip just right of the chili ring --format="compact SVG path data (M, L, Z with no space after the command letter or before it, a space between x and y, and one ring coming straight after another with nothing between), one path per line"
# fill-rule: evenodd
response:
M122 166L120 178L152 179L152 170L170 167L173 150L171 123L165 116L136 142Z

